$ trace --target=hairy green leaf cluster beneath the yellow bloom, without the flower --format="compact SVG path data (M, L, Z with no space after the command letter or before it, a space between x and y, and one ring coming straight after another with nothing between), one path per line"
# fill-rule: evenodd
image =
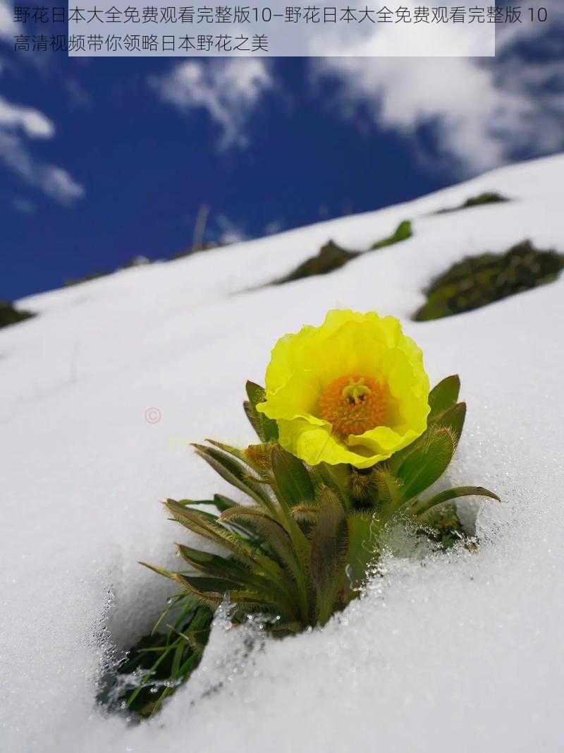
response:
M144 563L177 583L191 605L214 610L228 597L235 623L259 612L271 617L270 630L278 635L323 625L358 596L390 523L415 525L440 540L445 526L436 522L435 508L468 495L498 499L480 486L421 496L446 471L462 433L465 404L458 402L458 377L430 392L424 434L367 471L305 465L277 444L276 422L256 410L263 389L247 383L247 395L245 411L260 444L239 450L209 441L196 445L196 452L247 495L248 504L224 495L165 501L173 520L222 553L177 544L182 571ZM455 523L456 528L457 518Z

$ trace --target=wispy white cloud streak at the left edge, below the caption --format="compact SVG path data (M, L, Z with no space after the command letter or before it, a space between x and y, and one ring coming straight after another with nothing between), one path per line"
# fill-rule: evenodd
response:
M29 139L50 139L55 127L40 111L0 97L0 160L23 181L59 203L81 199L86 193L84 187L62 167L34 160L20 131Z

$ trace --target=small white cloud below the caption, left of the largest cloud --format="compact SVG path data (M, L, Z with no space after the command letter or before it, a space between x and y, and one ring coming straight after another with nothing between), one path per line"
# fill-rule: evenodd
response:
M247 145L245 128L250 115L273 85L265 61L251 58L186 60L149 81L163 102L180 111L207 110L221 128L223 149Z

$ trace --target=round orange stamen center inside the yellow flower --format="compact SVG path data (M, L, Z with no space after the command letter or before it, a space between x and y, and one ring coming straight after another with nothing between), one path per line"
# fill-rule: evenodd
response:
M338 377L323 390L319 414L341 438L364 434L384 423L389 399L387 388L371 377Z

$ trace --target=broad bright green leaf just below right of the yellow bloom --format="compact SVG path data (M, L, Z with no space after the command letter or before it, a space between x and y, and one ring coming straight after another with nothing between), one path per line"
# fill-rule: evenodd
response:
M428 437L399 466L397 475L403 481L405 501L420 494L441 477L452 460L455 443L450 429L440 427L429 431Z

